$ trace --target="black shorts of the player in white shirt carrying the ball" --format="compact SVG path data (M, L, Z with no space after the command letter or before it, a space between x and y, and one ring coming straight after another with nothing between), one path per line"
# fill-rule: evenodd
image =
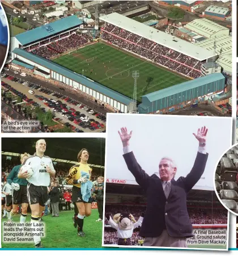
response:
M45 186L35 186L31 183L27 185L27 198L29 205L39 204L44 207L48 199L48 189Z

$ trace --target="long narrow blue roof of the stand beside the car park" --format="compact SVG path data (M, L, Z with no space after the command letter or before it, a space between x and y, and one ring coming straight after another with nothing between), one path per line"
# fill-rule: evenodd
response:
M25 59L28 59L39 65L42 65L45 68L48 68L54 72L57 72L75 82L79 82L80 84L86 85L88 88L96 90L97 92L104 94L105 96L108 96L110 98L113 98L114 100L119 101L122 104L125 104L126 106L129 105L131 102L131 99L129 97L126 97L121 93L118 93L104 85L101 85L95 81L92 81L91 79L87 79L86 77L79 75L73 71L70 71L67 68L61 67L61 65L58 65L53 61L47 60L38 55L34 55L20 48L15 48L12 52L24 57Z

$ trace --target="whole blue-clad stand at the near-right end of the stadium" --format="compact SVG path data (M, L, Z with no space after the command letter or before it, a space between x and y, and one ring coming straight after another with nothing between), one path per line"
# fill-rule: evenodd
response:
M138 106L141 114L164 114L186 105L203 101L206 94L215 94L224 90L225 77L215 73L198 79L182 82L168 88L142 96L142 104Z

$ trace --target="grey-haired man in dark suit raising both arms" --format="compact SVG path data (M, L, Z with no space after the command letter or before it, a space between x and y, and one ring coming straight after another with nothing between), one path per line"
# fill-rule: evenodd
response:
M126 127L118 131L124 150L124 159L137 183L146 191L147 208L139 236L145 237L144 246L187 247L186 238L194 236L186 195L201 178L207 162L206 127L198 129L194 137L199 142L194 166L186 177L175 180L177 168L172 159L162 158L159 175L149 176L137 163L129 141L132 135Z

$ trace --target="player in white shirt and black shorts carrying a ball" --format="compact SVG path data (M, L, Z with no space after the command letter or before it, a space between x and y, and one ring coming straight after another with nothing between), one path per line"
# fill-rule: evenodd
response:
M46 142L44 139L39 139L36 142L36 153L29 156L23 163L32 168L33 174L27 178L27 196L29 205L31 207L31 224L37 226L41 218L41 213L45 208L45 203L48 200L48 186L50 184L50 177L54 177L56 171L52 160L49 156L45 156ZM22 178L24 175L21 168L18 177ZM33 240L36 248L42 248L40 231L33 233Z

